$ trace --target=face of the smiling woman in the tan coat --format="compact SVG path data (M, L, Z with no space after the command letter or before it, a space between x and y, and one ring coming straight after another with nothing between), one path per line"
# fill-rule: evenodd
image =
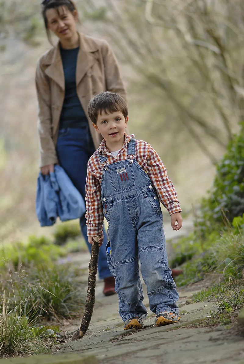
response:
M77 12L71 13L65 6L46 11L48 28L59 39L68 40L76 35Z

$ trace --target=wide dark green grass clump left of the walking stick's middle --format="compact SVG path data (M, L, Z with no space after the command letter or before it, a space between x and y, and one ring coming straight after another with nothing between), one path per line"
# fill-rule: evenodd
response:
M75 279L75 272L67 266L52 266L20 272L14 280L14 292L9 307L21 309L25 316L38 320L70 318L84 308L85 292ZM5 282L5 292L11 292L12 281ZM1 311L1 309L0 309Z

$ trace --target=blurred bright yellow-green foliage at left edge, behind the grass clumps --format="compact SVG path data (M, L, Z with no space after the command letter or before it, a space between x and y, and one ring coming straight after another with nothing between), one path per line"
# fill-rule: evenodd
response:
M65 249L52 244L46 237L30 236L27 244L15 242L0 250L0 267L11 262L15 270L21 263L24 266L52 265L59 257L65 255Z

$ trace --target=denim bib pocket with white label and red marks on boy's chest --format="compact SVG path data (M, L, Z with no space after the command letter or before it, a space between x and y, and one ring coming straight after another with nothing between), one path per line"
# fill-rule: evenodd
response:
M132 166L129 162L122 166L109 168L108 173L115 191L124 191L135 186Z

